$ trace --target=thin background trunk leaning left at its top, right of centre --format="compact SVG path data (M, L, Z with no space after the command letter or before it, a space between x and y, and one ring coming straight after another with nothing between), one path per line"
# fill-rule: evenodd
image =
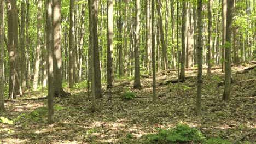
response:
M162 57L164 60L164 68L165 70L168 69L168 56L167 56L167 47L165 45L165 37L164 37L164 29L162 26L162 15L161 15L161 8L160 8L161 0L158 0L158 3L156 3L156 9L158 11L158 17L159 17L159 28L160 28L160 38L161 38L161 46L162 46Z

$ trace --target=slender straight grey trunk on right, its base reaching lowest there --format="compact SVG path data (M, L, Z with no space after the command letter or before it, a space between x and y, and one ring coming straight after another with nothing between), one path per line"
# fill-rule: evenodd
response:
M197 1L197 97L196 97L196 115L201 115L201 97L202 97L202 0Z

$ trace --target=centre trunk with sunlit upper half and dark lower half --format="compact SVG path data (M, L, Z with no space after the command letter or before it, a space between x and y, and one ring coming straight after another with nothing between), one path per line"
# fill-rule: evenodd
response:
M140 15L141 15L141 4L140 0L136 0L136 33L135 33L135 47L134 47L134 55L135 55L135 69L134 69L134 85L133 88L141 89L141 77L140 77L140 64L139 64L139 47L140 47Z

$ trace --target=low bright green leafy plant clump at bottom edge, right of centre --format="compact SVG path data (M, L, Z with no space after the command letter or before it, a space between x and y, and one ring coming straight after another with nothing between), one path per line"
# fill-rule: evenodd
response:
M178 124L174 128L159 129L158 134L149 134L150 142L179 143L179 142L201 142L205 139L201 131L191 128L187 124Z

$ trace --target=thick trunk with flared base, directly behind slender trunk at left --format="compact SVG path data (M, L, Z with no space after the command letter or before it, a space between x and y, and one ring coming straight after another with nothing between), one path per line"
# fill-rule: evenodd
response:
M54 97L67 96L62 88L61 1L53 0L53 73Z

